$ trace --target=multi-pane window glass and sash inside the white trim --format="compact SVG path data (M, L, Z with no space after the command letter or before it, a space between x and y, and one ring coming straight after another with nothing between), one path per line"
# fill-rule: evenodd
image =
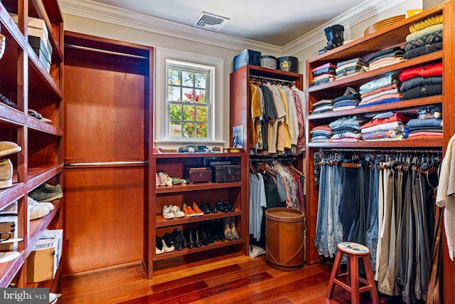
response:
M208 140L210 70L166 62L168 137Z

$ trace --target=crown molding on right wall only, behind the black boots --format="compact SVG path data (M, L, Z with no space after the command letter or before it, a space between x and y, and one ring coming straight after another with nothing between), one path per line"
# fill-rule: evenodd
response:
M342 24L346 29L350 28L351 26L355 26L356 24L373 18L374 16L382 13L383 11L387 11L387 9L391 9L406 0L370 0L364 1L362 4L358 6L354 6L353 9L346 11L345 13L341 14L340 16L328 21L314 30L309 31L294 41L291 41L286 46L283 46L283 53L285 54L295 54L303 51L305 48L309 46L313 46L316 43L320 43L321 41L326 41L326 36L324 34L324 28L327 26L331 26L333 24Z

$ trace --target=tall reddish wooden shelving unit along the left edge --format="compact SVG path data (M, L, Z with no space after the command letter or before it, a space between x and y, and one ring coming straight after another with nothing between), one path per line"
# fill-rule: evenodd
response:
M18 15L18 24L10 14ZM28 18L43 19L48 30L52 57L50 70L28 43ZM59 292L61 270L51 281L27 284L27 259L45 229L63 229L63 199L54 209L28 223L27 196L44 182L60 184L63 170L63 18L57 0L3 0L0 2L1 35L6 48L0 59L0 93L13 105L0 102L0 140L16 142L21 151L8 155L14 167L13 185L0 189L0 209L18 201L18 237L12 261L0 263L0 288L46 287ZM28 115L35 110L51 120Z

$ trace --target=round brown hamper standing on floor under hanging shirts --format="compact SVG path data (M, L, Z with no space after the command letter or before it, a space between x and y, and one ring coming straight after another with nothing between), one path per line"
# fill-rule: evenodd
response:
M283 271L295 271L304 264L304 212L283 207L265 211L267 263Z

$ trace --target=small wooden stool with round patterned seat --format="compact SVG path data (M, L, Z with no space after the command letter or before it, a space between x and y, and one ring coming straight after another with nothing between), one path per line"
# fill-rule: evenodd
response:
M373 278L373 269L371 268L370 249L360 245L359 243L351 242L338 243L336 247L338 248L338 251L336 253L335 262L333 263L330 281L328 282L326 298L331 299L333 297L335 285L338 285L344 290L350 292L350 303L352 304L359 304L360 293L365 293L365 291L370 291L373 304L378 304L378 291L376 290L375 278ZM340 273L343 254L348 257L348 268L346 273ZM363 268L365 268L365 274L367 277L366 280L358 276L359 258L363 261ZM344 276L346 276L346 283L338 280L338 278L342 278ZM360 287L359 281L365 284L365 286Z

